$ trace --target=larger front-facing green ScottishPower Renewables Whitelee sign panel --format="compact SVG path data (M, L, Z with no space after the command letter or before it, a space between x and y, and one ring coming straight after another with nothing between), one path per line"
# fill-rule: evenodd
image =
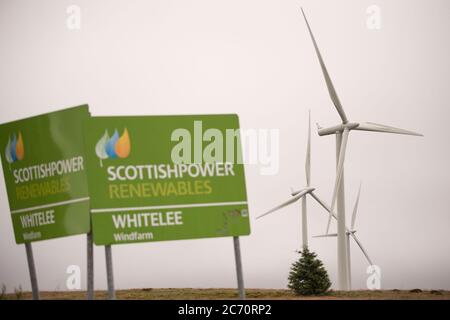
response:
M94 242L248 235L238 128L236 115L90 118Z

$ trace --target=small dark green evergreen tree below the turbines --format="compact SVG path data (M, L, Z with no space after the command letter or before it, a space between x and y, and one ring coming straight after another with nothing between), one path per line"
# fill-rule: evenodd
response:
M300 259L292 264L288 288L296 295L320 295L331 286L322 261L308 248L299 251Z

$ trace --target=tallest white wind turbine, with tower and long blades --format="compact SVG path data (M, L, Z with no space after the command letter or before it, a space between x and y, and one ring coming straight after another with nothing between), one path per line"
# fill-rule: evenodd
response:
M345 195L344 195L344 159L345 159L345 149L347 146L348 135L351 130L362 130L362 131L373 131L373 132L386 132L386 133L396 133L396 134L405 134L405 135L416 135L421 136L421 134L399 129L391 126L386 126L382 124L376 124L373 122L349 122L347 116L344 112L344 109L339 101L339 97L336 93L336 90L333 86L331 78L328 74L325 63L323 62L322 56L320 54L319 48L317 46L314 35L311 31L311 27L309 26L308 20L306 19L306 15L302 9L303 17L306 22L306 26L308 27L309 34L311 36L311 40L314 44L314 49L317 54L317 58L319 59L320 67L322 69L323 76L325 78L325 83L328 88L328 93L330 98L339 113L339 116L342 120L341 124L330 128L319 128L318 133L320 136L324 135L336 135L336 181L334 185L333 198L331 201L330 212L334 212L334 207L337 202L337 238L338 238L338 287L340 290L349 290L349 281L348 281L348 259L347 259L347 245L346 245L346 226L345 226ZM329 226L331 222L330 213L327 225L327 232L329 231Z

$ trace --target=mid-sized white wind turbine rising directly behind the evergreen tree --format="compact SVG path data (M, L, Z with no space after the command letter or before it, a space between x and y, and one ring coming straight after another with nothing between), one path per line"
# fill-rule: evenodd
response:
M294 202L302 199L302 247L305 249L308 246L308 219L307 219L307 203L306 195L311 195L316 201L320 203L320 199L314 194L315 188L311 187L311 112L309 112L309 124L308 124L308 143L306 146L306 159L305 159L305 172L306 172L306 187L294 191L291 190L292 198L282 204L272 208L271 210L258 216L256 219L262 218L274 211L284 208Z

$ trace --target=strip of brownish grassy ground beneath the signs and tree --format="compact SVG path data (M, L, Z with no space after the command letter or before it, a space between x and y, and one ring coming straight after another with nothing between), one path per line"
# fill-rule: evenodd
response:
M275 289L247 289L247 299L444 299L450 300L450 291L432 290L383 290L383 291L333 291L328 295L320 297L293 295L288 290ZM3 299L31 299L30 292L20 294L7 294ZM130 289L118 290L117 299L123 300L171 300L171 299L237 299L236 289ZM59 292L41 292L41 299L85 299L86 292L83 291L59 291ZM96 291L96 299L106 299L105 291Z

